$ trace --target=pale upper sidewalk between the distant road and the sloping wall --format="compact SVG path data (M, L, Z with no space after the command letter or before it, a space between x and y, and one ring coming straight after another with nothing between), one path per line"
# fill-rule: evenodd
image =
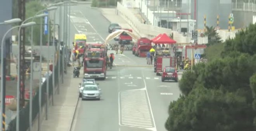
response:
M119 15L117 15L116 8L100 8L102 15L109 20L111 23L118 23L122 28L132 29L133 33L138 37L141 35L138 32L135 32L133 28Z

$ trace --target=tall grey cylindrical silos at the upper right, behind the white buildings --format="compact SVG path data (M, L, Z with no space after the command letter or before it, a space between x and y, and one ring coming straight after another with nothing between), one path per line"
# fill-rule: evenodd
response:
M206 15L207 26L215 27L217 25L217 15L219 15L220 28L228 29L228 15L232 12L231 0L196 0L196 7L194 2L195 0L191 0L189 5L192 19L194 19L194 12L196 12L197 29L204 29L204 15ZM183 12L187 12L187 10L183 9Z

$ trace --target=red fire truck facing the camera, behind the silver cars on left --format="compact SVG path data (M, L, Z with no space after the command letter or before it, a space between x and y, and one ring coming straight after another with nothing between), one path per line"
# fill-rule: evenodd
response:
M106 59L99 51L86 52L84 57L84 78L106 79Z

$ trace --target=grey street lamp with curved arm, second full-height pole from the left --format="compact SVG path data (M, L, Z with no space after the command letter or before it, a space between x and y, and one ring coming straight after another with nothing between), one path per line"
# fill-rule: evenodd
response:
M35 15L34 17L29 17L29 18L27 18L26 20L24 20L22 23L21 23L21 25L22 24L24 24L26 21L28 21L28 20L31 20L31 19L33 19L33 18L40 18L40 17L45 17L45 16L47 16L48 14L46 14L46 13L43 13L43 14L40 14L40 15ZM30 22L29 22L30 23ZM30 23L30 24L33 24L33 25L35 25L36 23L34 22L34 23ZM24 25L26 25L26 24L24 24ZM31 26L31 25L29 25L29 26ZM20 47L20 44L21 44L21 36L20 36L20 33L21 33L21 27L19 27L19 32L18 32L18 47ZM17 81L17 121L16 121L16 130L17 131L19 131L19 109L20 109L20 68L21 68L21 61L20 61L20 57L21 57L21 52L20 52L20 50L18 50L18 71L17 71L17 76L18 76L18 81ZM31 99L31 98L30 98Z

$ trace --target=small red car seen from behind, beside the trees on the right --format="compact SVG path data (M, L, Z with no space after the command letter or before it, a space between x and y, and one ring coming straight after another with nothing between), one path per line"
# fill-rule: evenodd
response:
M178 82L178 74L177 69L174 67L164 67L164 71L162 74L162 82L165 80L173 80L175 82Z

